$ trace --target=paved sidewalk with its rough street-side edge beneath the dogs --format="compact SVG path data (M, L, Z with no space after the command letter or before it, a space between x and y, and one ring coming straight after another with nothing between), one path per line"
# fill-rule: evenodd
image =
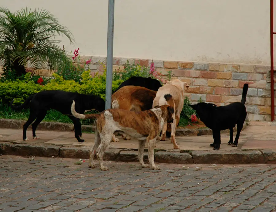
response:
M84 143L77 142L74 137L74 132L37 130L36 135L39 136L40 139L33 139L32 132L28 129L27 137L29 138L29 141L25 142L22 140L21 129L0 128L0 151L2 154L17 154L22 156L54 155L67 158L88 158L88 152L94 143L94 134L83 133L82 138L85 139ZM234 133L234 139L235 136L236 133ZM121 159L128 158L130 160L130 158L135 158L138 148L137 140L124 140L121 136L117 136L117 138L120 139L120 142L111 142L109 146L109 153L107 152L107 155L111 154L112 157L110 157L114 158L118 153L118 155L121 155ZM248 126L240 134L238 147L231 147L227 145L229 141L229 133L221 134L221 146L219 151L213 151L213 149L209 147L209 144L213 143L212 135L177 136L176 139L180 147L179 150L173 150L173 145L169 139L166 141L158 141L155 148L155 156L162 154L160 157L165 158L162 159L164 160L163 162L177 163L276 163L275 122L250 122L250 126ZM34 151L34 147L40 148L40 150ZM46 149L43 150L42 147ZM56 149L56 151L51 153L51 150L47 150L47 148L50 147ZM42 151L46 152L43 153ZM176 157L176 154L181 155L181 160L183 160L182 162L178 159L169 159L172 155ZM240 155L244 154L247 155L247 158L241 159ZM252 156L251 154L255 156ZM270 158L267 158L265 156L266 154L269 154ZM195 155L201 155L199 157L201 158L201 161L197 161L199 158L195 159ZM226 155L232 155L232 159L227 161L230 156ZM115 159L118 159L117 156ZM147 157L147 154L145 157ZM106 159L110 158L107 156Z

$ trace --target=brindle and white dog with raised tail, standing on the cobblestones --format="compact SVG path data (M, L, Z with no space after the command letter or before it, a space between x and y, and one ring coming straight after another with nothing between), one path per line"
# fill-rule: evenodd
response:
M167 101L172 99L172 96L166 96ZM75 102L71 105L73 116L80 119L95 120L95 143L89 154L89 167L95 168L93 162L94 155L97 154L100 168L108 170L103 165L103 154L109 146L114 132L123 132L129 136L138 139L138 159L143 168L159 169L154 164L154 145L156 138L159 136L165 122L172 123L174 109L172 106L163 105L157 106L151 110L133 112L121 109L109 109L98 114L80 114L75 111ZM144 147L148 142L148 157L150 166L144 164Z

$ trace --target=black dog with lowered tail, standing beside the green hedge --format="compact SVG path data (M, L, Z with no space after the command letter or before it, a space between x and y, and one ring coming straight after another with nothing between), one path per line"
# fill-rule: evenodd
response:
M78 118L74 117L71 113L72 101L76 102L76 111L84 113L88 110L98 110L102 112L105 110L105 101L94 95L78 94L66 91L40 91L32 96L29 96L25 102L20 106L13 106L13 101L10 102L11 108L21 110L30 105L30 115L28 121L23 126L23 140L28 141L26 131L29 125L32 124L33 138L39 139L36 136L36 127L46 116L47 110L55 109L68 117L74 123L75 137L79 142L84 142L80 139L82 136L82 127Z

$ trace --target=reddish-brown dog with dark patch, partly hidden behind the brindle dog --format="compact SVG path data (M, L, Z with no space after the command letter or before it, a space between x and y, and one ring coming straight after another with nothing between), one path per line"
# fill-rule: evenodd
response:
M127 85L121 87L112 95L112 108L123 109L130 111L144 111L152 108L152 102L155 98L156 91L152 91L145 87ZM121 134L123 139L131 139L124 133ZM113 135L113 142L119 142L120 140Z

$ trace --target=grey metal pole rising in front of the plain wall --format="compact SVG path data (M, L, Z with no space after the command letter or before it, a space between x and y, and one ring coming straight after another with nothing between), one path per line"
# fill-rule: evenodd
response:
M114 4L115 4L115 0L109 0L108 1L105 110L111 108L112 65L113 65L113 32L114 32Z

